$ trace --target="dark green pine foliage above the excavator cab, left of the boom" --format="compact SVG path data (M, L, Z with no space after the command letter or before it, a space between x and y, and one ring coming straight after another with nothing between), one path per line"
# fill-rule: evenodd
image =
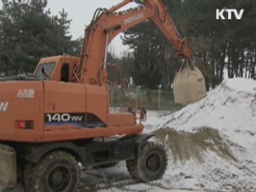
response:
M68 14L62 10L52 16L46 5L46 0L2 0L0 74L31 73L42 57L78 55L81 39L71 39Z

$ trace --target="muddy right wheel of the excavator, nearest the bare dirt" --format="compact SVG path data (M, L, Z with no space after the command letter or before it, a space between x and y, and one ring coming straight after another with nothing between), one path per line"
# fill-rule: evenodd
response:
M154 142L146 142L140 151L137 159L126 161L131 177L142 182L162 178L167 167L167 155L163 146Z

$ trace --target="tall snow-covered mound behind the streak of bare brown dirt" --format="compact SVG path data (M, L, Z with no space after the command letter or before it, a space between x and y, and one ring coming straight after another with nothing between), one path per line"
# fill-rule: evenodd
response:
M256 131L256 82L235 78L222 82L202 101L161 119L163 125L192 131L210 126L232 134ZM161 122L161 124L162 124Z

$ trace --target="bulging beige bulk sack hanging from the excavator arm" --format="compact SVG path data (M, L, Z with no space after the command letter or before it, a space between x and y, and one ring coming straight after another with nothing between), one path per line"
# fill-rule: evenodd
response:
M174 102L187 105L205 98L206 82L197 66L186 61L174 78Z

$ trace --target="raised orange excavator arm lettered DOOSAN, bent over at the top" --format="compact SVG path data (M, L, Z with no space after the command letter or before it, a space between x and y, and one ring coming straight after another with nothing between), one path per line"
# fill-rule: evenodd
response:
M178 34L173 19L166 12L161 0L135 1L138 2L137 8L117 11L130 2L134 1L124 0L109 10L96 10L92 22L86 28L81 57L74 69L74 81L105 85L108 45L118 34L148 19L158 26L180 56L190 58L190 48L186 45L186 40Z

